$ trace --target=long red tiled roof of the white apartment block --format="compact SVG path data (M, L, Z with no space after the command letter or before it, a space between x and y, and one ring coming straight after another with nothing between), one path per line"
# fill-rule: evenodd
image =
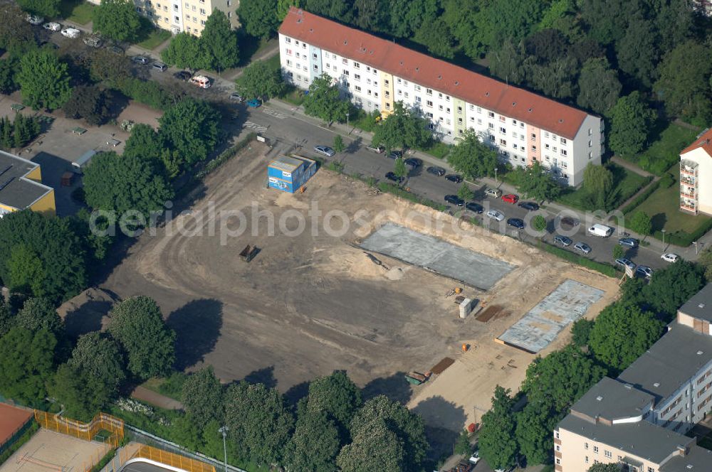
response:
M279 32L569 139L576 136L587 116L580 109L295 7L290 8Z

